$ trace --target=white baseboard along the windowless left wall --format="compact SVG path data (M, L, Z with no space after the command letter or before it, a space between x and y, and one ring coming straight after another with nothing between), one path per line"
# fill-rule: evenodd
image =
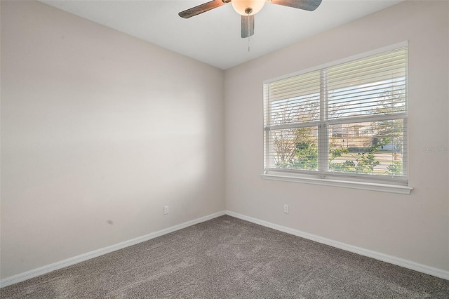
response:
M156 237L161 237L164 234L170 234L170 232L182 230L183 228L186 228L186 227L189 227L192 225L196 225L198 223L201 223L201 222L213 219L213 218L217 218L222 215L225 215L224 211L213 213L213 214L210 214L210 215L207 215L207 216L204 216L201 218L197 218L197 219L194 219L191 221L187 221L187 222L181 223L180 225L168 227L166 229L159 230L157 232L152 232L150 234L146 234L145 236L142 236L142 237L130 239L128 241L123 241L118 244L114 244L111 246L107 246L105 248L97 249L95 251L83 253L81 255L76 255L73 258L67 258L66 260L60 260L59 262L56 262L56 263L53 263L50 265L46 265L43 267L39 267L34 270L29 270L27 272L13 275L11 277L6 277L5 279L2 279L0 281L0 288L3 288L5 286L11 286L12 284L17 284L17 283L19 283L21 281L25 281L27 279L32 279L34 277L38 277L40 275L47 274L47 273L53 272L55 270L59 270L64 267L75 265L77 263L84 262L85 260L90 260L91 258L97 258L100 255L105 255L106 253L111 253L113 251L117 251L119 249L126 248L128 246L133 246L135 244L139 244L139 243L154 239Z

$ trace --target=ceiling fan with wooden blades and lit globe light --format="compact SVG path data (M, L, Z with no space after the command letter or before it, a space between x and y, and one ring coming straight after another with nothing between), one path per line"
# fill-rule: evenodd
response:
M217 8L232 3L234 10L241 15L241 37L244 39L254 34L254 15L258 13L265 2L304 9L304 11L314 11L322 0L213 0L189 8L179 13L181 18L191 18L200 13L205 13L213 8Z

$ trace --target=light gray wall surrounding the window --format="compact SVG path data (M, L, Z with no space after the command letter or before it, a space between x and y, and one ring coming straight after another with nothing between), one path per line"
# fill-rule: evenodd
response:
M225 72L226 207L449 270L448 1L405 1ZM262 81L409 41L410 195L262 180ZM290 213L283 213L283 204Z

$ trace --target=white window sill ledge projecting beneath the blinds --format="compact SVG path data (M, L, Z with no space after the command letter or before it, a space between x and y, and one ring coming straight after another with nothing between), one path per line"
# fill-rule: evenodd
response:
M379 192L390 192L397 194L410 194L413 187L400 186L400 185L387 185L379 184L375 182L354 182L347 180L329 180L326 178L302 178L294 175L274 175L274 174L262 174L264 180L281 180L285 182L300 182L313 185L324 185L333 187L345 187L351 189L371 190Z

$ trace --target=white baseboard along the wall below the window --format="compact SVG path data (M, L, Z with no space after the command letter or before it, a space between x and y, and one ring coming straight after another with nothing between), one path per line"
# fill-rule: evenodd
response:
M283 227L281 225L276 225L276 224L271 223L271 222L267 222L267 221L264 221L264 220L259 220L259 219L252 218L252 217L248 217L246 215L241 215L239 213L234 213L232 211L225 211L225 213L226 213L226 215L229 215L229 216L232 216L232 217L235 217L235 218L239 218L241 220L246 220L246 221L249 221L249 222L253 222L255 224L262 225L264 227L269 227L269 228L272 228L274 230L279 230L281 232L286 232L288 234L293 234L293 235L295 235L297 237L302 237L304 239L309 239L309 240L312 240L312 241L316 241L316 242L319 242L321 244L326 244L326 245L329 245L329 246L333 246L335 248L343 249L345 251L349 251L349 252L352 252L352 253L357 253L357 254L360 254L360 255L368 256L369 258L375 258L376 260L382 260L383 262L387 262L387 263L390 263L390 264L393 264L393 265L398 265L398 266L401 266L401 267L404 267L404 268L408 268L410 270L415 270L417 272L422 272L422 273L425 273L425 274L433 275L435 277L440 277L442 279L448 279L449 280L449 271L445 271L445 270L438 269L438 268L435 268L435 267L430 267L430 266L427 266L427 265L422 265L420 263L415 263L415 262L413 262L411 260L404 260L403 258L397 258L396 256L393 256L393 255L387 255L387 254L379 253L379 252L376 252L376 251L370 251L370 250L365 249L365 248L360 248L360 247L357 247L357 246L344 244L344 243L341 243L341 242L338 242L338 241L334 241L334 240L331 240L331 239L326 239L326 238L323 238L323 237L319 237L319 236L316 236L314 234L308 234L307 232L301 232L300 230L293 230L293 229L291 229L289 227Z

